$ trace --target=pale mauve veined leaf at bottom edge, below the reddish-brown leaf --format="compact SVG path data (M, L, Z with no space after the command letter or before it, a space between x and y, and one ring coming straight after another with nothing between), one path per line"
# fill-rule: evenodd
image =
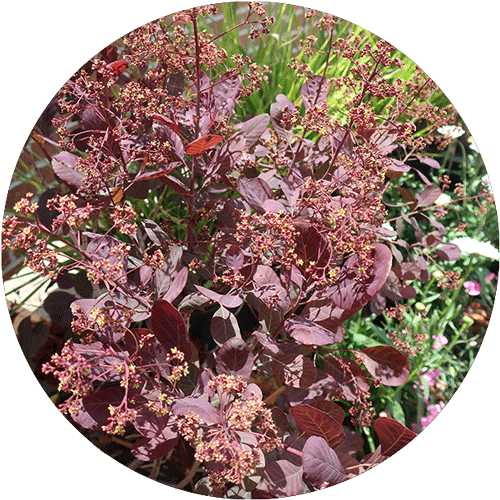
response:
M304 477L314 487L333 486L347 478L337 454L323 438L310 437L306 441L302 453Z

